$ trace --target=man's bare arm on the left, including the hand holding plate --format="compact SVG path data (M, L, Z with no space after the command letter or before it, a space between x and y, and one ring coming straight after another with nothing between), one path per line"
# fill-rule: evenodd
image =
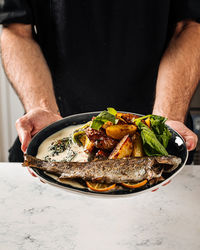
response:
M25 151L35 133L61 119L52 78L41 49L32 37L31 25L4 27L1 51L5 72L26 111L16 122Z

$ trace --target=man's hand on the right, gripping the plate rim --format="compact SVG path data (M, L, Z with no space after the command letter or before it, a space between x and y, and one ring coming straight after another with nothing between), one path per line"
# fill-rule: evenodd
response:
M176 130L183 137L189 151L196 148L198 142L197 135L189 128L187 128L182 122L167 120L166 124Z

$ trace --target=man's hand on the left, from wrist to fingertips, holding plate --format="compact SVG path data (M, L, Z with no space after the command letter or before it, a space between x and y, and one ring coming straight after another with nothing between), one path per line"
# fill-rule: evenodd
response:
M35 108L16 121L16 129L21 142L21 150L25 153L31 138L49 124L61 120L62 117L50 110Z

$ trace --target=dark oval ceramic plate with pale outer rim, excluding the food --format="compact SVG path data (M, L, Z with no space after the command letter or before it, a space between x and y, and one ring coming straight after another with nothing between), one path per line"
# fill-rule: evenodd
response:
M30 154L32 156L36 156L40 144L47 137L49 137L50 135L52 135L52 134L56 133L57 131L59 131L63 128L66 128L70 125L86 123L89 120L91 120L91 118L93 116L96 116L99 113L100 112L90 112L90 113L81 113L81 114L71 115L71 116L63 118L62 120L57 121L57 122L49 125L48 127L44 128L43 130L41 130L38 134L36 134L33 137L33 139L31 140L31 142L28 146L27 154ZM136 195L136 194L140 194L140 193L143 193L146 191L155 191L160 186L164 186L168 182L170 182L170 180L178 172L181 171L181 169L184 167L184 165L187 161L187 157L188 157L188 152L187 152L186 145L185 145L183 138L176 131L174 131L172 128L169 127L169 129L172 133L172 138L169 141L167 151L171 155L175 155L175 156L180 157L182 159L182 161L181 161L181 164L179 165L179 167L175 171L164 176L165 180L163 182L156 184L154 186L151 186L151 187L146 185L143 188L137 188L137 189L123 188L122 190L115 190L115 191L108 192L108 193L99 193L99 192L90 191L87 189L87 187L82 189L82 188L72 187L68 184L60 183L60 182L56 181L54 178L45 174L45 172L40 170L40 169L32 168L32 170L40 179L42 179L46 183L49 183L51 185L54 185L54 186L57 186L60 188L64 188L68 191L74 191L74 192L79 192L79 193L81 192L84 194L93 194L93 195L95 194L97 196L103 195L103 196L107 196L107 197L110 197L110 196L119 196L120 197L120 196L124 196L124 195Z

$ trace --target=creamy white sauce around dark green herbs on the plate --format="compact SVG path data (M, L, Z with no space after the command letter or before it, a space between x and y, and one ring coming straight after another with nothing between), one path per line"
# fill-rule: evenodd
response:
M69 126L67 128L64 128L64 129L54 133L51 136L49 136L39 146L36 157L41 159L41 160L44 160L45 157L50 154L49 147L51 146L52 142L55 142L57 140L60 140L60 139L63 139L65 137L72 135L74 130L76 130L82 126L83 126L83 124ZM88 154L84 152L84 147L81 147L73 142L71 144L71 149L77 153L76 156L72 159L72 161L76 161L76 162L88 161ZM65 157L66 157L66 151L59 153L58 155L51 156L51 160L62 161L63 159L65 159Z

